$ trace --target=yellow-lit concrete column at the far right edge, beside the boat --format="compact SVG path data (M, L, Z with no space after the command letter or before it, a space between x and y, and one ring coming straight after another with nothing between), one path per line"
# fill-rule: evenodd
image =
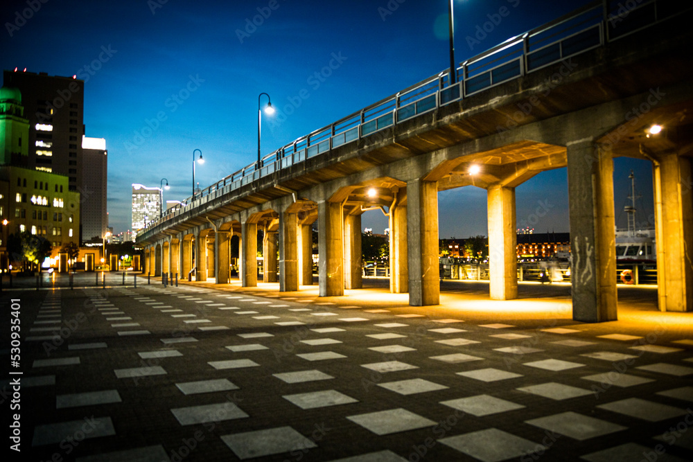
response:
M654 166L658 303L661 311L693 311L691 161L675 152Z

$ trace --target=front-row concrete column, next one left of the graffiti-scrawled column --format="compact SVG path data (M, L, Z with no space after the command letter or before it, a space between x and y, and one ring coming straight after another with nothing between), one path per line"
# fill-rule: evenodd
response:
M407 183L407 262L409 304L440 303L438 260L438 186L415 179Z

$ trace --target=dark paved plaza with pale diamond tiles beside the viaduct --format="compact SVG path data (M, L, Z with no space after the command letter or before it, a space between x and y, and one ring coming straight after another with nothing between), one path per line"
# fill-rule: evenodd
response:
M444 281L417 308L382 281L107 282L2 293L6 364L21 305L10 460L693 460L693 314L656 311L651 288L586 324L568 285L494 302Z

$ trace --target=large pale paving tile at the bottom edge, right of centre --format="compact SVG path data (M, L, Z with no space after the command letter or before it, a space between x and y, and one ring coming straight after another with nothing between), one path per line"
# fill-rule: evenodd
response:
M496 428L448 436L438 441L482 462L500 462L520 457L535 460L532 452L545 450L543 445Z

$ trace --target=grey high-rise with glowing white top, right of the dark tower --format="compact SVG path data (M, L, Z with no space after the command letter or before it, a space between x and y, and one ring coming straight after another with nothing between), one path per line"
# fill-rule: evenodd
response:
M82 240L99 240L107 231L106 181L108 151L103 138L82 139L84 186L82 190Z

